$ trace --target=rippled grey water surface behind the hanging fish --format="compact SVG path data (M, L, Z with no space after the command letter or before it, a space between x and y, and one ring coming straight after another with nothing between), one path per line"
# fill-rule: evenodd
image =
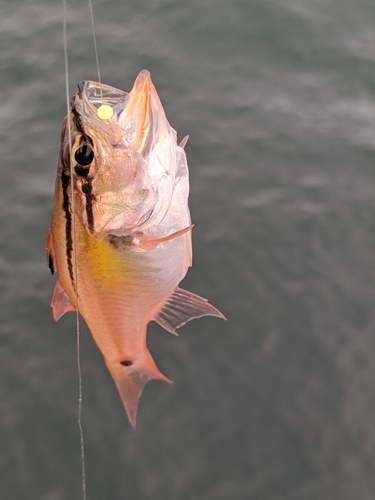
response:
M373 0L97 0L103 82L147 68L190 134L194 267L228 322L149 326L173 386L130 428L82 325L89 500L375 498ZM0 498L80 499L75 318L47 270L62 6L0 8ZM96 80L68 1L71 95Z

